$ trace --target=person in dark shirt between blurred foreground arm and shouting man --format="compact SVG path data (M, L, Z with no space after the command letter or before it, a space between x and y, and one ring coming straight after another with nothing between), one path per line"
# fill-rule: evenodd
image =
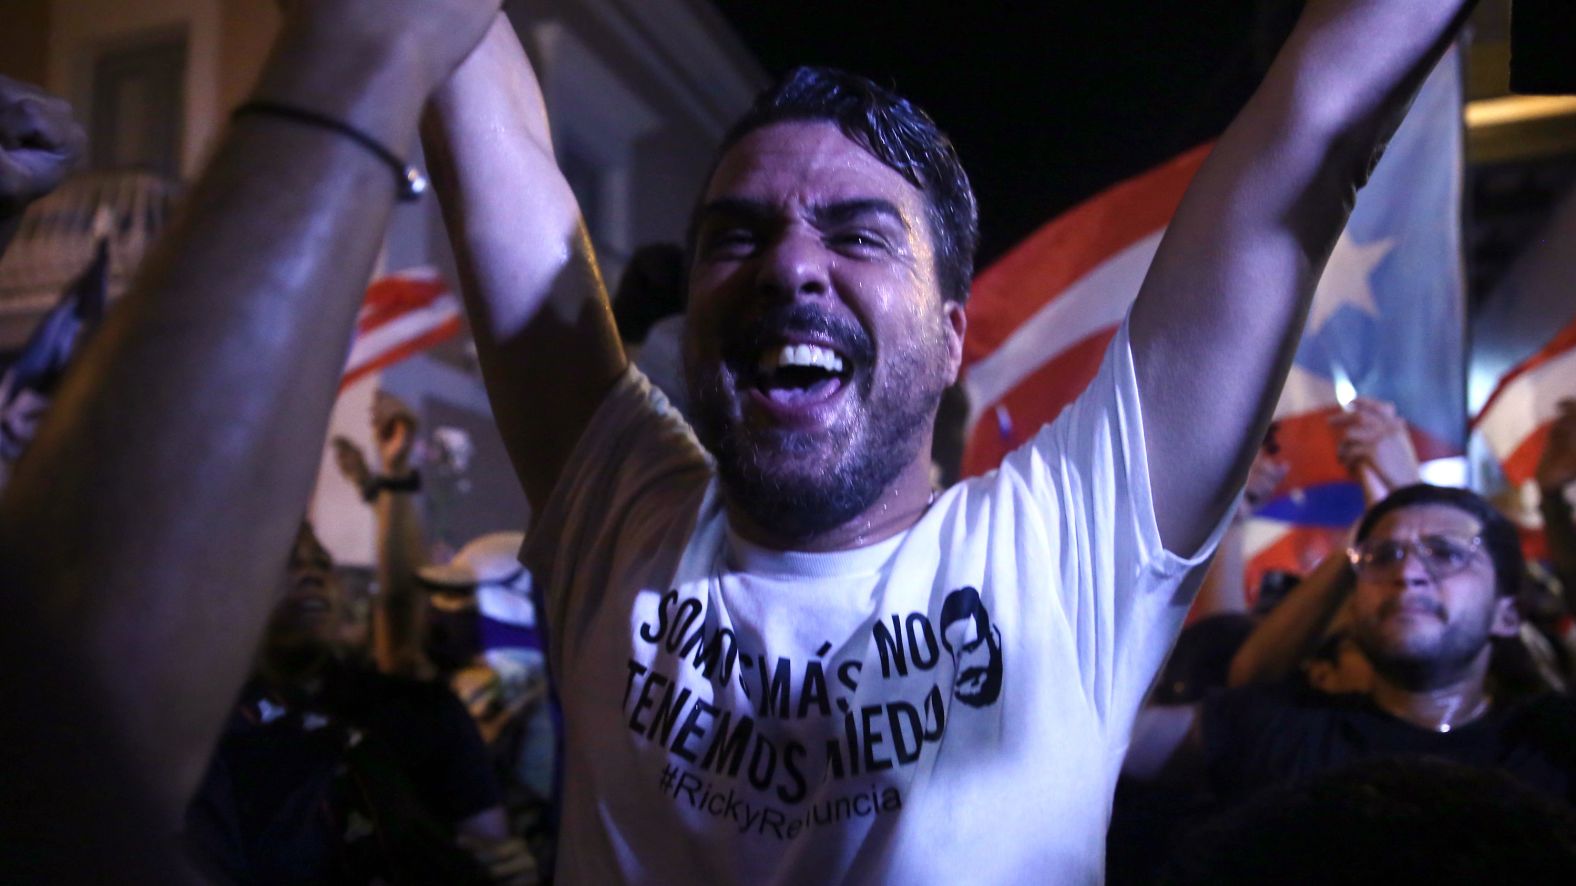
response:
M197 867L225 883L534 883L465 708L441 684L345 662L342 607L303 523L186 813Z

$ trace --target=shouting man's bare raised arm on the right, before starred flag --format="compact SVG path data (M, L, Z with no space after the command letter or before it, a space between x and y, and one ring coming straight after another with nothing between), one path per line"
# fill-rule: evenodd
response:
M1311 0L1188 188L1132 314L1168 549L1231 506L1355 191L1470 6Z

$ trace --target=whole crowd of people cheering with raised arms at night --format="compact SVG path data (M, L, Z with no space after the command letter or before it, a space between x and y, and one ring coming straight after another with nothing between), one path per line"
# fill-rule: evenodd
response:
M637 268L684 281L659 320L610 307L496 0L285 3L0 498L0 878L1568 880L1576 404L1538 471L1562 582L1370 400L1349 547L1240 579L1322 265L1469 11L1310 3L1089 389L947 486L979 229L917 107L761 93ZM418 131L533 520L429 563L380 396L375 457L334 443L380 534L347 631L301 514ZM0 246L77 150L0 80Z

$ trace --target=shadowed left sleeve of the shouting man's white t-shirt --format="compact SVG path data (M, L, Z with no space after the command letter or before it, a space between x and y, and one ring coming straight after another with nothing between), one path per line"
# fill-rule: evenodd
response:
M618 593L615 558L665 550L657 536L693 520L709 478L689 424L630 366L591 416L522 550L555 673L585 616Z

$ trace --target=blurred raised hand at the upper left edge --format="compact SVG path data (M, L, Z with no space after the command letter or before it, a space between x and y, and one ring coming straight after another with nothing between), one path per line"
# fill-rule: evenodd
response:
M22 211L60 186L85 145L65 99L0 74L0 254Z

